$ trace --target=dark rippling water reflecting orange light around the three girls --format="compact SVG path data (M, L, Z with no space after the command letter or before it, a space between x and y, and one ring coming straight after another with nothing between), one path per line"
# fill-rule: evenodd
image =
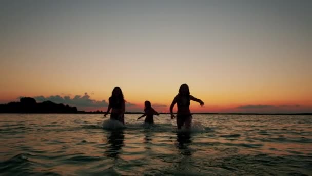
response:
M139 116L0 114L0 174L312 175L312 116Z

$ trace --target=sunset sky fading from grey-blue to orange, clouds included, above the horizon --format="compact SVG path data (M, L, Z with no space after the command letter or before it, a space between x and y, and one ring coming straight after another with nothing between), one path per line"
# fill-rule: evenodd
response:
M0 103L312 112L312 1L0 1Z

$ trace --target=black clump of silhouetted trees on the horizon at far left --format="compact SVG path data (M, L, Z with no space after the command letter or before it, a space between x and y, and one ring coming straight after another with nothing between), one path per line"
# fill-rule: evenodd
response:
M77 108L52 101L37 103L34 98L24 97L19 102L0 104L0 113L77 113Z

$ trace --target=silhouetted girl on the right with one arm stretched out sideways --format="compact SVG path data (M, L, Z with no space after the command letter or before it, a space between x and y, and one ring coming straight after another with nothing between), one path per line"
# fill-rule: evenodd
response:
M177 127L181 129L182 126L185 126L186 129L189 129L192 124L192 115L189 110L190 100L199 102L201 106L204 105L204 102L198 98L193 97L189 93L189 88L187 84L182 84L179 89L179 94L176 95L170 105L170 114L171 119L174 118L173 107L177 103Z

